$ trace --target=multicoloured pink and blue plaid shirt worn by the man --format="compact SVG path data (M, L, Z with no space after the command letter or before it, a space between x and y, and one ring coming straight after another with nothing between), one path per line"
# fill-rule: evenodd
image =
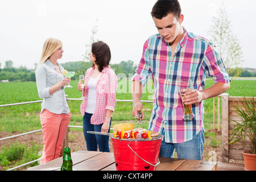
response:
M184 28L184 27L183 27ZM230 82L220 55L207 39L185 30L171 58L171 46L159 35L152 35L143 46L142 59L131 80L146 85L148 77L154 82L154 101L149 130L164 134L166 142L191 140L204 129L204 101L192 105L195 118L184 121L178 80L189 78L193 88L203 90L205 77L214 82Z

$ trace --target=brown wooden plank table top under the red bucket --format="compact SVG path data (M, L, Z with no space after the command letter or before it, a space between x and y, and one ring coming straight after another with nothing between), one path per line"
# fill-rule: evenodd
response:
M73 170L77 171L116 171L112 152L76 151L71 153ZM217 163L203 160L185 160L159 157L157 171L217 171ZM27 171L60 171L63 158L52 160Z

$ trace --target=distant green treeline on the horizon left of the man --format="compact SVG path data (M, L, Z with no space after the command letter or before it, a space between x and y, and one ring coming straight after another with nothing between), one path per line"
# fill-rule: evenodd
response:
M7 61L6 61L7 62ZM74 71L76 75L72 77L72 80L78 80L79 75L85 75L85 72L88 68L92 67L92 63L89 61L75 61L60 63L64 69L67 71ZM110 64L110 67L114 69L115 74L124 73L127 77L129 73L134 73L137 65L133 61L121 61L119 64ZM36 81L35 79L35 69L27 69L26 67L14 68L12 61L8 61L8 64L5 65L5 68L0 68L0 81L9 80L9 81Z

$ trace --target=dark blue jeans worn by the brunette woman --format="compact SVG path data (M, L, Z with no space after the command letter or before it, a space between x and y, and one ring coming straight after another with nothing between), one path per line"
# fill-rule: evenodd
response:
M88 151L97 151L97 148L98 148L101 152L110 152L109 136L87 133L87 131L101 132L101 127L103 125L103 123L100 125L92 125L90 123L90 118L92 117L92 115L93 114L85 113L84 117L82 118L82 129L84 130L86 148ZM110 120L110 125L111 125L111 120ZM109 127L109 130L110 130L110 127Z

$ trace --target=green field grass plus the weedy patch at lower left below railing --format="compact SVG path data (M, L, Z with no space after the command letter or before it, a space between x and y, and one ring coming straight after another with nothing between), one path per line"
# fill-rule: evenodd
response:
M81 94L76 89L77 81L72 81L73 88L66 88L65 93L68 98L80 98ZM205 88L213 85L212 80L207 80ZM131 100L130 82L125 79L120 79L117 89L117 100ZM233 79L230 84L228 92L230 96L255 96L256 95L256 78L250 80ZM38 101L38 92L35 82L0 82L0 105L14 104L18 102ZM152 100L152 82L149 81L143 90L142 100ZM81 101L69 100L69 107L71 108L71 122L69 125L82 126L82 115L80 113ZM148 127L148 121L151 115L152 103L144 103L145 121L140 127ZM217 101L216 101L217 108ZM137 120L131 115L133 109L132 102L117 102L115 112L113 113L112 127L115 123L123 121L133 122L136 125ZM19 106L0 107L0 132L25 133L27 131L41 129L39 113L41 110L41 103L27 104ZM217 109L216 109L217 117ZM217 118L216 118L217 121ZM216 134L210 132L213 128L213 98L205 100L205 138L211 138L209 145L216 147L221 145L221 141L216 139ZM79 130L81 129L71 129ZM207 143L205 143L207 144ZM28 147L30 146L30 147ZM8 169L19 164L30 162L38 159L38 152L42 150L42 144L18 144L18 142L11 144L11 146L3 146L0 150L0 170ZM20 158L16 159L16 156ZM14 158L13 158L14 157ZM36 164L32 164L36 165Z

